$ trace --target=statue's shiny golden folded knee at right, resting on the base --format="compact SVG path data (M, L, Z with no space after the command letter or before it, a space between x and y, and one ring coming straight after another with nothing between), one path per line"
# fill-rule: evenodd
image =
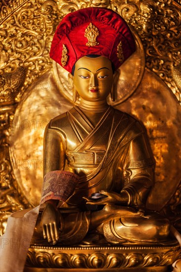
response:
M104 236L111 243L122 243L122 240L157 243L165 241L169 232L169 220L155 212L116 218L103 224Z

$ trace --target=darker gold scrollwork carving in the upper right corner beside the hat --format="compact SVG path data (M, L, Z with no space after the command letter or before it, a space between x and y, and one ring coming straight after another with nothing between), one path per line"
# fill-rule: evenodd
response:
M181 57L181 4L174 0L112 1L116 10L139 35L146 67L156 73L181 102L171 69Z

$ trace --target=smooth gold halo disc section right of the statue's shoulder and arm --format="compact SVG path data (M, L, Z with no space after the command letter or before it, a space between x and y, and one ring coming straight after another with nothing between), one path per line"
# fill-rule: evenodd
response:
M147 205L151 209L161 210L181 180L178 167L178 146L181 145L180 105L168 87L146 69L142 84L130 99L116 108L132 114L146 127L156 161L155 185Z

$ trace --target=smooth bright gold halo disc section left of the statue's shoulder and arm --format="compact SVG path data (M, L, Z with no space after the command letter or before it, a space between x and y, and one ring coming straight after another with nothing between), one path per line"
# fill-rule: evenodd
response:
M14 175L22 194L32 206L39 205L42 190L45 127L51 118L72 107L57 91L52 79L51 72L45 73L29 89L23 103L17 106L11 126L10 155Z

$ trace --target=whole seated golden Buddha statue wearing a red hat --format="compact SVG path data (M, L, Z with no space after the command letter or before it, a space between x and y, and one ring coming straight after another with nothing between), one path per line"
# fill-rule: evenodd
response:
M80 35L79 42L75 35ZM72 245L99 243L100 237L102 243L113 244L167 238L169 221L144 210L154 170L144 128L106 101L109 93L112 100L115 97L115 69L134 50L129 27L109 9L82 9L68 14L58 26L50 56L70 72L74 102L79 95L80 104L46 127L45 209L34 239ZM64 201L60 173L79 177Z

